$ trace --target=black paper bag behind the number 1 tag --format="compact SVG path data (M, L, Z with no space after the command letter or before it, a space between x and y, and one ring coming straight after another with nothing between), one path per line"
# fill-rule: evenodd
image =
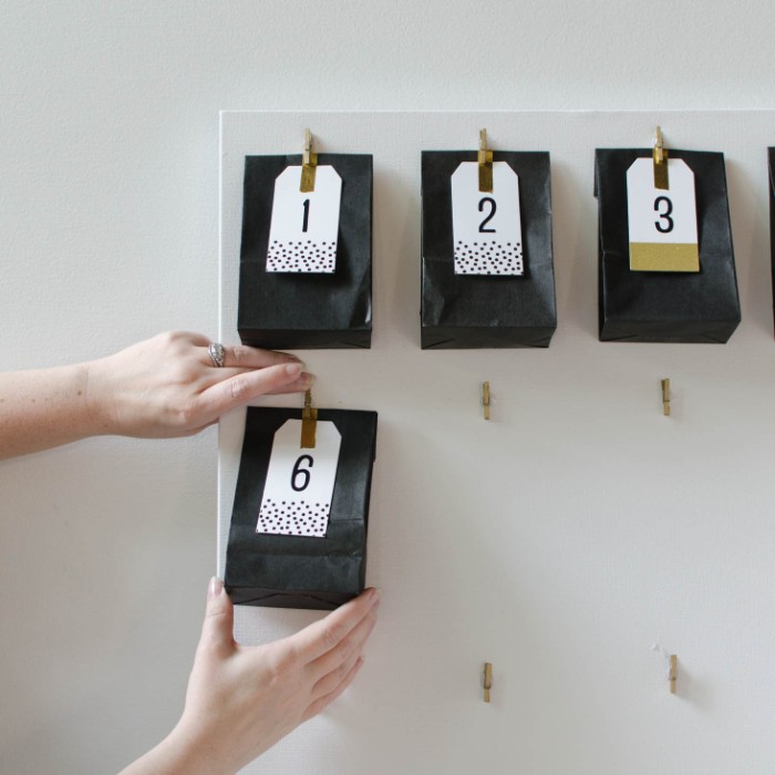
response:
M333 273L268 272L275 180L301 156L246 156L237 329L272 350L371 347L372 156L319 154L342 178Z

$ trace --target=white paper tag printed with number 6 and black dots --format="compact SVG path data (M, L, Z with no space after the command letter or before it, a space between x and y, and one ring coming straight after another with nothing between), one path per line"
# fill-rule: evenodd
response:
M288 420L272 441L256 533L326 537L342 436L318 421L313 450L302 450L301 420Z

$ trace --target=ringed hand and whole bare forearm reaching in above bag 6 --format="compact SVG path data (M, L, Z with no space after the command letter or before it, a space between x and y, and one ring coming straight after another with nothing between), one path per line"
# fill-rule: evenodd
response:
M187 436L265 393L307 390L293 355L170 332L87 363L0 373L0 459L86 436Z

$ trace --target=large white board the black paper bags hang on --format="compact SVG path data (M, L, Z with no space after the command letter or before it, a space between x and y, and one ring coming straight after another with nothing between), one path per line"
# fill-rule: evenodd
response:
M368 571L380 622L345 695L246 772L772 772L774 117L221 114L224 342L238 341L245 155L300 153L310 127L319 152L374 156L372 349L300 354L319 406L380 414ZM597 339L593 152L648 147L658 124L668 147L726 155L743 309L726 345ZM496 151L551 154L548 350L420 349L420 154L473 151L482 127ZM242 424L244 411L220 423L221 572ZM240 609L237 638L266 642L319 616ZM675 696L654 642L679 655Z

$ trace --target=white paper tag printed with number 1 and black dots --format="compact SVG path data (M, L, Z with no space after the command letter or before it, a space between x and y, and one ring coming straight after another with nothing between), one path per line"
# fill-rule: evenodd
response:
M331 165L314 173L314 190L299 190L301 167L275 180L267 271L332 273L337 268L342 178Z

